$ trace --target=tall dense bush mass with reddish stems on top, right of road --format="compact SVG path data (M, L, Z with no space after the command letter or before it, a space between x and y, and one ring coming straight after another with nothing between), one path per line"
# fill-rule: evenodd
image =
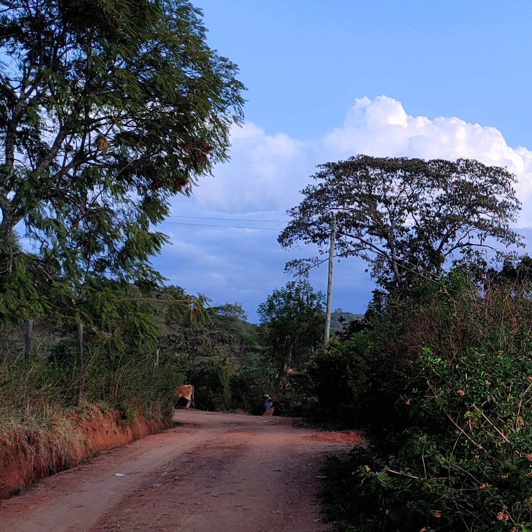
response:
M512 273L526 263L390 294L355 335L371 445L332 461L323 490L348 530L532 528L531 285Z

